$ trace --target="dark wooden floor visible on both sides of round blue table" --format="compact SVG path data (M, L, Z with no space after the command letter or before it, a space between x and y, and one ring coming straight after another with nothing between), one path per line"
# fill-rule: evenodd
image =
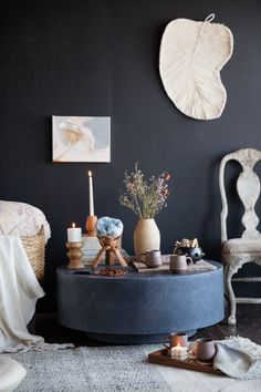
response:
M238 305L237 326L228 326L226 320L208 328L198 330L197 337L223 339L229 336L249 338L261 344L261 305ZM58 323L55 314L41 313L35 317L34 333L44 337L49 343L74 343L75 345L104 345Z

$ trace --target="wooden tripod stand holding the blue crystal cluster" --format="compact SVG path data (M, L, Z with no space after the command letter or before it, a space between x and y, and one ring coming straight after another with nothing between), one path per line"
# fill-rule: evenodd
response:
M116 259L118 259L119 264L123 267L127 267L127 262L125 261L124 257L121 254L121 250L118 249L118 240L121 238L112 238L112 237L106 237L106 236L97 236L100 244L102 245L102 248L100 249L97 256L92 262L92 267L96 268L98 262L101 261L103 254L105 252L105 264L107 266L113 266Z

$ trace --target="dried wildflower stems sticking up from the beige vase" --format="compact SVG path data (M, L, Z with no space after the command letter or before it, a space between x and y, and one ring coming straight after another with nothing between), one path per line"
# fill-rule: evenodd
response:
M140 219L152 219L167 207L169 179L170 174L163 173L146 180L136 162L134 172L124 173L125 192L119 195L119 203L130 208Z

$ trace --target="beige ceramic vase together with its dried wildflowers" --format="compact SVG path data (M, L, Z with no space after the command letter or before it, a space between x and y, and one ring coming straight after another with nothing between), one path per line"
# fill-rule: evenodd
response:
M137 163L130 174L124 174L125 192L119 195L119 203L139 218L134 230L136 260L140 260L140 255L146 250L160 249L160 233L155 216L167 206L169 179L170 175L163 173L146 180Z

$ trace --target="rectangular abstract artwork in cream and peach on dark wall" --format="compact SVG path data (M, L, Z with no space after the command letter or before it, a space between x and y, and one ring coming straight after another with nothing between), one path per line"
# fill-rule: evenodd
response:
M111 162L111 117L52 116L53 162Z

